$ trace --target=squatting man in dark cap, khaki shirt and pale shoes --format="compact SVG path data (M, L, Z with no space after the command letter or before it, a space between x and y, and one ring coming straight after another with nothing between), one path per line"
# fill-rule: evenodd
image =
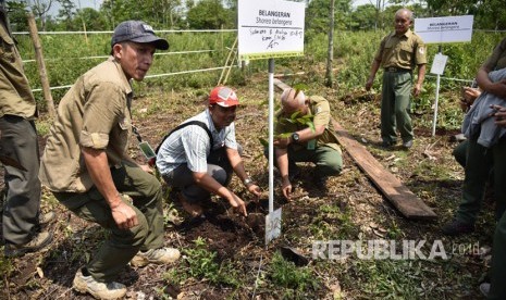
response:
M163 247L160 182L128 155L132 139L131 79L143 80L156 49L169 42L140 21L118 25L111 57L82 75L58 107L40 166L40 178L73 213L110 232L73 288L99 299L122 298L113 279L131 262L165 264L178 259Z

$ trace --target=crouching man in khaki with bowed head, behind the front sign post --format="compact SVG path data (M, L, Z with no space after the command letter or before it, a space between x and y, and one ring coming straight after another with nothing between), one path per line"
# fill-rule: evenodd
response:
M288 201L292 199L291 177L298 173L296 162L316 164L313 182L323 191L328 188L328 177L341 173L343 159L331 121L325 98L306 97L301 90L293 88L281 95L274 128L274 159L281 173L283 196Z

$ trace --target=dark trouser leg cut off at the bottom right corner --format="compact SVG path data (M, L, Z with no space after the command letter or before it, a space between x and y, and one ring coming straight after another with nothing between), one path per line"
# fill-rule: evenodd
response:
M506 214L501 216L494 233L490 270L491 289L488 299L506 299Z

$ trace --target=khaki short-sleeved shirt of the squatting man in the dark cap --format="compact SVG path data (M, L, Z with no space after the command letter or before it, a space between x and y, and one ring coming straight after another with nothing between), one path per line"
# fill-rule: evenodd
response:
M132 134L132 87L111 57L82 75L58 107L40 165L40 180L57 192L84 192L92 182L82 147L106 150L111 167L126 157Z

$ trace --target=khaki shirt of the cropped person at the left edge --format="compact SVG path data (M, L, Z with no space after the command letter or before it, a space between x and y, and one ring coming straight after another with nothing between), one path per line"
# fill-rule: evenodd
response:
M5 114L26 120L37 117L35 98L11 36L3 1L0 2L0 117Z

